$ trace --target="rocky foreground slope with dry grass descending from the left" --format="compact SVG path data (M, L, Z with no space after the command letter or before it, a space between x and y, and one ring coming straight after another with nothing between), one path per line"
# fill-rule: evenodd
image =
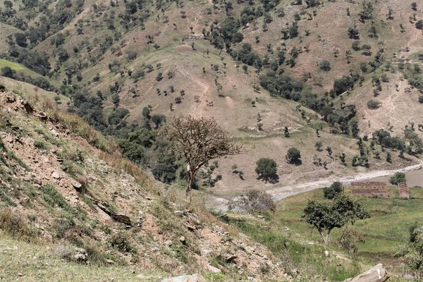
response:
M2 87L0 106L0 272L6 281L283 274L269 250L199 202L188 205L181 190L154 183L77 116L17 88Z

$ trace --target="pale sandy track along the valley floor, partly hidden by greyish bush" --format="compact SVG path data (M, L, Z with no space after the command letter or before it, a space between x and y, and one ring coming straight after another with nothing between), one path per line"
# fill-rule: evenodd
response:
M350 183L356 182L356 181L371 180L371 179L379 178L382 176L391 176L396 172L406 173L408 171L417 171L422 168L423 168L423 161L421 161L419 164L406 166L405 168L386 170L386 171L371 171L368 173L359 174L357 176L348 176L344 178L331 177L331 178L326 178L326 179L307 182L307 183L287 185L287 186L283 186L279 188L274 188L271 190L266 190L266 192L272 195L275 198L275 200L279 201L279 200L285 199L286 197L297 195L302 192L307 192L307 191L329 186L334 181L340 181L344 185L349 185ZM207 202L207 207L219 209L221 211L226 211L228 209L227 204L228 204L228 200L225 198L210 196L209 201Z

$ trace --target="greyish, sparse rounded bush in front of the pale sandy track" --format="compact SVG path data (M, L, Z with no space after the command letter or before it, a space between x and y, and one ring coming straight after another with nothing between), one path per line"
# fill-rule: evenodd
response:
M249 190L228 204L228 209L235 209L248 214L262 214L276 211L274 198L266 191Z

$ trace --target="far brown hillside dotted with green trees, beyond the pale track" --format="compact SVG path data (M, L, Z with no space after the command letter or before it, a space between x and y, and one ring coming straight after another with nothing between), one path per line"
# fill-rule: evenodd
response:
M198 183L233 195L417 163L421 142L414 148L403 135L423 124L422 7L412 3L62 0L18 9L16 2L0 21L21 35L8 37L1 57L44 75L47 81L26 80L69 97L68 111L122 142L142 128L155 136L180 114L216 118L246 152L219 160L212 177L221 180L212 187L202 177ZM357 146L381 129L404 144ZM157 145L142 145L143 156L132 161L159 167ZM300 166L286 163L290 147L300 149ZM276 160L278 183L257 180L262 157ZM183 181L172 173L171 182Z

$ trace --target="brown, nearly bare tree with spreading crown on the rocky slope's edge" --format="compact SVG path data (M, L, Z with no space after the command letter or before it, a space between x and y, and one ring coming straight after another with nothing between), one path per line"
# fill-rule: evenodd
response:
M216 121L192 116L178 116L164 129L164 135L175 144L175 153L187 163L186 197L191 200L192 180L208 161L226 155L240 154L242 145L234 142Z

